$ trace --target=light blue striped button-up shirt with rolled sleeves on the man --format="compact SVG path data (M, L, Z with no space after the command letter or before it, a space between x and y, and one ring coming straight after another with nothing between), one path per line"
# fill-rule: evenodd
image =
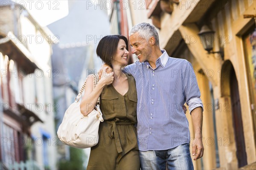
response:
M152 69L148 61L124 68L134 76L137 88L137 134L139 150L168 150L189 143L189 123L182 106L190 112L202 107L191 63L169 57L165 50Z

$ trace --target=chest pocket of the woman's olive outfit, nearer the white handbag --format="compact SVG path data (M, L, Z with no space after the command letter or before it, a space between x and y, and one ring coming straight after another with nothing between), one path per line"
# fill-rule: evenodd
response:
M113 114L119 112L119 108L116 107L115 103L118 103L117 95L102 95L101 110L105 114Z

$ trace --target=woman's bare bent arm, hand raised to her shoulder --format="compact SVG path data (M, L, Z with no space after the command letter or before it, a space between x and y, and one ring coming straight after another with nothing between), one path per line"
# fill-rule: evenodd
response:
M83 115L88 115L95 107L96 102L104 88L113 82L113 72L106 73L106 69L103 70L102 78L99 80L97 86L93 90L93 76L89 75L84 88L84 96L80 103L80 111Z

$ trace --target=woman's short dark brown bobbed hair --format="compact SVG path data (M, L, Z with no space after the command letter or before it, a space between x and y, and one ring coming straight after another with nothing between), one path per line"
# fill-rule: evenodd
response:
M101 58L103 62L105 62L112 68L113 66L111 64L111 61L113 59L113 56L116 54L117 45L120 39L125 41L126 49L128 51L128 40L123 35L107 35L103 37L99 41L99 44L96 49L96 53L99 56L99 58Z

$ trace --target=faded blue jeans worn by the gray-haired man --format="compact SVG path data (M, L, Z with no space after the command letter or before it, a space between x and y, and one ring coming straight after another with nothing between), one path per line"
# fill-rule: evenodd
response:
M194 170L189 144L169 150L140 151L141 170Z

